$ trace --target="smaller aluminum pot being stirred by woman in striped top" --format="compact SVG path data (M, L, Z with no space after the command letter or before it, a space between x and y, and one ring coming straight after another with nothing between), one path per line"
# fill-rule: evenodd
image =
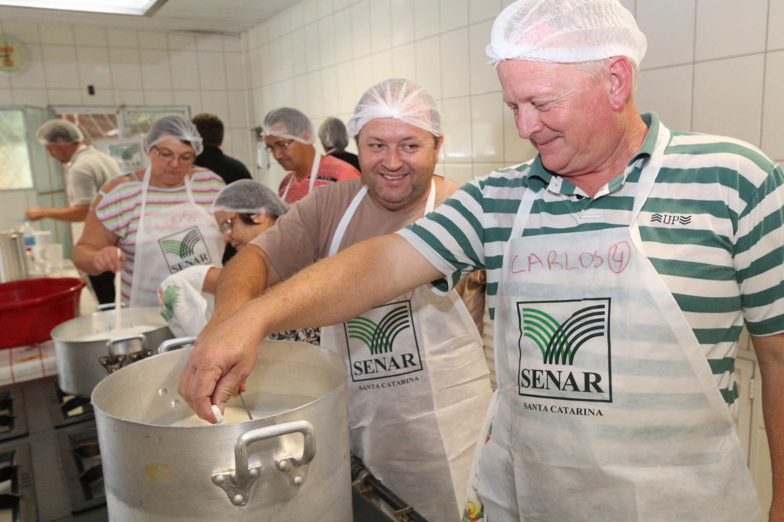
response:
M107 306L114 305L98 308ZM52 330L60 390L89 397L104 377L123 365L153 355L163 341L174 337L158 308L123 308L120 319L122 328L153 326L154 329L108 340L79 340L85 334L114 329L114 310L105 310L71 319Z

